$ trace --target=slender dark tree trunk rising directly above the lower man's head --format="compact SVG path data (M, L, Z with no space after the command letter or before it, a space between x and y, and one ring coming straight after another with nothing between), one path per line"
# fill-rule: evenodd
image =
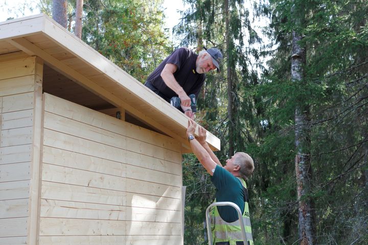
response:
M234 113L233 113L233 80L232 80L232 67L231 67L231 47L229 37L229 9L228 0L224 1L225 11L225 36L226 36L226 66L227 66L227 119L228 119L228 157L234 155Z

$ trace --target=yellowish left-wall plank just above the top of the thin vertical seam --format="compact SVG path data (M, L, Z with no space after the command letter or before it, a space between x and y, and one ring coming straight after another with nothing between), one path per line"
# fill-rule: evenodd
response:
M34 90L34 75L0 80L0 96L26 93Z

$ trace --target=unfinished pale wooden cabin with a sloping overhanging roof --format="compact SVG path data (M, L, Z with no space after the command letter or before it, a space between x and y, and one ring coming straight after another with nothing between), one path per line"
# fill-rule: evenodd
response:
M0 244L183 244L188 117L48 16L0 23L0 115Z

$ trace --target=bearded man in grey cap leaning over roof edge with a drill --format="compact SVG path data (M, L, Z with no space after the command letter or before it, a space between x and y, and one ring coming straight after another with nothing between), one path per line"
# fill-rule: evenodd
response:
M222 54L217 48L205 49L197 55L187 47L180 47L157 66L145 85L169 103L172 97L179 97L182 112L194 119L189 95L198 97L205 74L214 69L219 71L221 61Z

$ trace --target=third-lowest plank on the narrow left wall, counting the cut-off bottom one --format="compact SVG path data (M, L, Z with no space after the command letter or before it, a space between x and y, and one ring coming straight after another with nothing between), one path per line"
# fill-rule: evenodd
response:
M14 218L28 216L29 199L0 201L0 218Z

